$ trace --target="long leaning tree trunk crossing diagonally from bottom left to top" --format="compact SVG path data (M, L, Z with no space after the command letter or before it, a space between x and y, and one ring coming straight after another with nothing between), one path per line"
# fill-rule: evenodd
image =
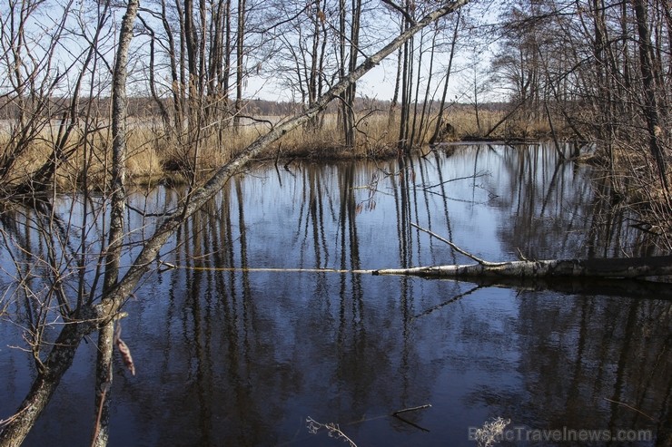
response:
M138 0L130 0L130 3L133 5L137 5L137 2ZM193 193L192 198L185 203L183 208L178 209L164 219L159 227L156 228L153 235L144 241L143 249L133 261L133 265L128 268L124 277L118 280L114 287L101 297L99 302L91 306L83 306L66 322L68 324L63 326L61 333L56 337L54 344L51 345L51 351L44 360L43 366L37 371L24 402L19 406L15 416L10 418L11 420L5 424L4 429L0 432L0 447L18 446L24 442L25 436L44 411L47 403L49 403L63 375L73 364L77 347L82 342L84 336L97 330L100 322L110 321L119 312L128 296L137 287L140 279L155 265L156 257L159 255L161 248L163 248L163 244L183 225L184 219L189 218L197 210L201 209L207 201L212 199L223 188L232 175L241 171L245 164L266 150L273 142L281 139L287 132L303 125L324 110L334 98L340 97L351 83L355 83L361 76L390 55L390 53L397 50L413 34L416 34L440 17L452 13L468 3L469 0L455 0L454 2L443 4L430 12L430 14L425 15L417 23L412 24L392 40L390 44L380 49L378 53L366 58L355 70L348 73L339 83L334 85L329 92L321 96L310 109L302 112L292 120L284 121L282 124L276 126L272 131L254 141L247 149L233 158L233 160L222 166L203 185L203 188L197 189ZM121 42L122 39L120 39L120 44Z

